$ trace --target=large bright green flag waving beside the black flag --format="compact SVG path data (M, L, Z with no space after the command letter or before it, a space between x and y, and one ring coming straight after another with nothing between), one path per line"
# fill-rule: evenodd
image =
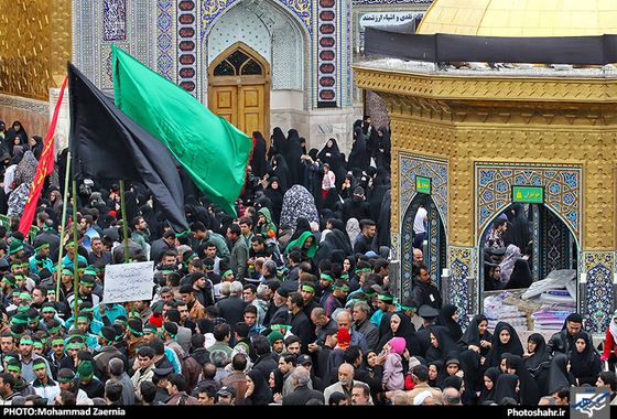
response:
M252 139L122 50L112 52L116 106L170 149L204 195L237 216Z

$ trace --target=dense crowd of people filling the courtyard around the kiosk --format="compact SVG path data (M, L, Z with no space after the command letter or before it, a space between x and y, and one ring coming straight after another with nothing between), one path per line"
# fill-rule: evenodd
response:
M306 151L293 129L274 128L269 146L255 132L236 216L183 178L186 232L139 182L121 196L116 183L86 180L64 200L63 151L24 236L17 193L32 182L37 142L22 131L0 127L0 214L10 217L0 227L0 404L542 405L567 404L578 385L614 398L617 378L604 368L614 347L600 357L577 315L526 347L508 323L488 331L476 315L462 326L420 248L412 292L394 299L390 133L370 118L355 123L348 155L335 139ZM106 302L106 268L144 261L152 298Z

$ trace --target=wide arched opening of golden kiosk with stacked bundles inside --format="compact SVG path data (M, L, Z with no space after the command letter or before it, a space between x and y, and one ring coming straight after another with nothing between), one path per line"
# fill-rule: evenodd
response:
M534 286L534 292L531 294L527 293L527 290L531 290L531 288L495 288L494 284L499 284L499 281L492 282L489 278L490 272L498 268L502 279L507 280L512 266L501 264L502 259L508 258L506 247L491 249L487 246L487 239L494 227L500 224L498 222L500 218L507 217L507 228L515 228L511 224L515 205L509 205L492 218L480 236L478 269L480 311L489 318L489 327L494 325L491 319L492 323L499 321L499 319L494 319L494 315L500 312L504 315L511 315L507 321L517 324L516 329L519 331L553 333L562 327L569 313L577 311L577 238L550 206L540 203L519 204L519 207L523 208L528 246L521 249L520 256L517 258L527 260L532 282L541 280L549 282L542 287ZM512 237L513 235L508 232L507 236ZM508 239L505 245L508 246ZM508 271L504 273L502 270L506 266L508 266ZM554 282L551 284L553 280ZM487 287L487 284L490 286ZM502 282L500 284L504 286ZM505 297L506 293L510 296ZM498 305L495 308L496 301ZM506 301L501 307L505 310L499 308L501 301ZM513 309L507 310L511 307L519 308L518 314Z

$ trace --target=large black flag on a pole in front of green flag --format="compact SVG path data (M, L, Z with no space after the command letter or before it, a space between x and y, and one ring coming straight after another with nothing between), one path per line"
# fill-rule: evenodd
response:
M68 63L73 179L144 183L176 232L188 229L175 161L159 139L129 118L113 100Z

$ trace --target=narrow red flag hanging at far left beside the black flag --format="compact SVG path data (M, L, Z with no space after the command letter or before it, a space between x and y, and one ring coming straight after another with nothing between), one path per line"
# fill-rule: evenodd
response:
M59 92L59 98L56 104L56 108L54 109L54 116L52 118L52 122L50 123L47 136L45 137L45 146L43 148L43 152L41 152L41 157L39 158L39 164L36 164L36 173L34 174L34 180L32 181L32 185L30 187L30 195L28 196L25 207L23 208L19 230L24 237L28 237L28 233L32 226L32 219L34 218L34 212L36 211L36 204L39 203L39 196L41 195L41 190L43 189L43 182L54 170L54 135L59 107L62 105L62 97L64 96L64 89L66 88L67 80L68 76L64 78L64 83Z

